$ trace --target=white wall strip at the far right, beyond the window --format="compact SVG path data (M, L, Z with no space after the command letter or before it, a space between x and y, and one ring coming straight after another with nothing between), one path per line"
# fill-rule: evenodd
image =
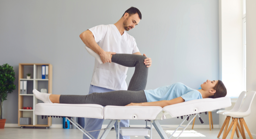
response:
M256 91L256 1L246 0L246 89ZM251 134L256 135L256 98L251 115L244 118ZM255 138L256 136L254 136Z

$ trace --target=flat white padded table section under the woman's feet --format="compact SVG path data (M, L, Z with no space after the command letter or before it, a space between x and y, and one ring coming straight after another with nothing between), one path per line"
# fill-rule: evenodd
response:
M104 107L97 104L38 103L35 107L35 115L103 119L103 110Z

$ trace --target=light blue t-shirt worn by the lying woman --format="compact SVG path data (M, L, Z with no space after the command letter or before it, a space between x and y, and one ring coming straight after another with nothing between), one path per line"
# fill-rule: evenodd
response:
M148 102L172 100L178 97L182 97L185 101L202 99L202 95L199 91L180 82L159 87L155 90L144 90L144 92Z

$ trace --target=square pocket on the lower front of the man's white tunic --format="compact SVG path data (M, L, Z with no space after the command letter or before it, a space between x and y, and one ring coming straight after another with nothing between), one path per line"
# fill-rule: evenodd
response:
M109 72L109 70L96 68L92 77L92 83L99 85L107 85Z

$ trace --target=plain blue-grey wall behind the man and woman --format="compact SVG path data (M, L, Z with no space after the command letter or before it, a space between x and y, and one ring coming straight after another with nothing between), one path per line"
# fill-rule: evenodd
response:
M206 79L219 79L218 0L0 0L0 65L14 67L18 85L19 63L50 63L53 94L86 95L94 58L79 34L117 22L131 6L141 11L142 20L128 33L153 61L146 89L175 82L198 89ZM129 68L127 83L133 72ZM17 93L4 101L6 123L18 123ZM201 116L208 124L208 115ZM212 117L217 124L218 115ZM161 124L180 121L171 118ZM61 118L53 118L53 124L61 123ZM198 118L195 124L201 125Z

